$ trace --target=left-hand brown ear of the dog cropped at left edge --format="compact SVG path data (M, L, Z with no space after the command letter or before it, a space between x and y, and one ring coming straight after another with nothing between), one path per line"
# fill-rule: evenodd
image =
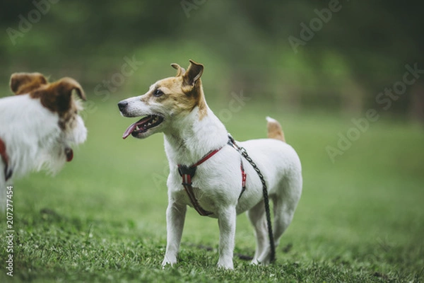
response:
M24 94L47 84L47 79L40 73L14 73L9 84L13 93Z

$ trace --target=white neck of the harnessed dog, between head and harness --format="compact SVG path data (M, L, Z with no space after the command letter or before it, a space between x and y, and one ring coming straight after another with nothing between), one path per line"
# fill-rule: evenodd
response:
M191 165L209 151L219 149L228 141L222 122L206 105L206 115L200 119L199 107L181 120L172 121L165 134L165 151L170 163Z

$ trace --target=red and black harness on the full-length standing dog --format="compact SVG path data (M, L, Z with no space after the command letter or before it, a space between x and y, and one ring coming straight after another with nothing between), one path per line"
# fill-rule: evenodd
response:
M236 149L234 140L232 138L229 139L228 144L230 144L230 146L233 146ZM208 212L200 206L193 192L192 178L194 177L194 174L196 173L197 166L199 166L201 163L204 163L206 160L214 156L218 151L223 149L223 147L220 147L219 149L215 149L213 151L209 151L208 154L206 154L204 157L202 157L199 161L194 163L192 166L178 164L178 173L180 176L182 176L182 186L184 187L184 190L187 192L187 195L189 196L190 202L192 202L194 209L196 209L196 212L199 213L201 216L208 216L213 214L213 212ZM245 168L243 166L242 161L241 161L240 169L242 171L242 192L240 193L239 199L240 197L242 197L243 192L245 192L246 190L246 172L245 172Z

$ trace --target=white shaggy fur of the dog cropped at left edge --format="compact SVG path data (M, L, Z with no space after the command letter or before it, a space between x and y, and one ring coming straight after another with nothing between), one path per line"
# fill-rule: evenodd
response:
M6 144L12 178L42 169L57 173L66 162L64 149L86 140L87 129L80 116L66 131L58 123L57 113L28 94L0 99L0 137ZM5 190L4 163L0 160L1 204L4 204Z

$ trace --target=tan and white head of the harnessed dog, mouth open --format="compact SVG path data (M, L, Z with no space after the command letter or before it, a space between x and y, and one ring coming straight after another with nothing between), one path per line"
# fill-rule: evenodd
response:
M199 109L199 120L206 115L206 103L201 86L201 74L204 66L190 60L185 71L178 64L171 64L177 69L177 75L156 81L143 96L136 96L118 103L119 111L124 117L141 117L124 132L126 139L133 137L144 139L163 132L173 122L184 119L195 108Z

